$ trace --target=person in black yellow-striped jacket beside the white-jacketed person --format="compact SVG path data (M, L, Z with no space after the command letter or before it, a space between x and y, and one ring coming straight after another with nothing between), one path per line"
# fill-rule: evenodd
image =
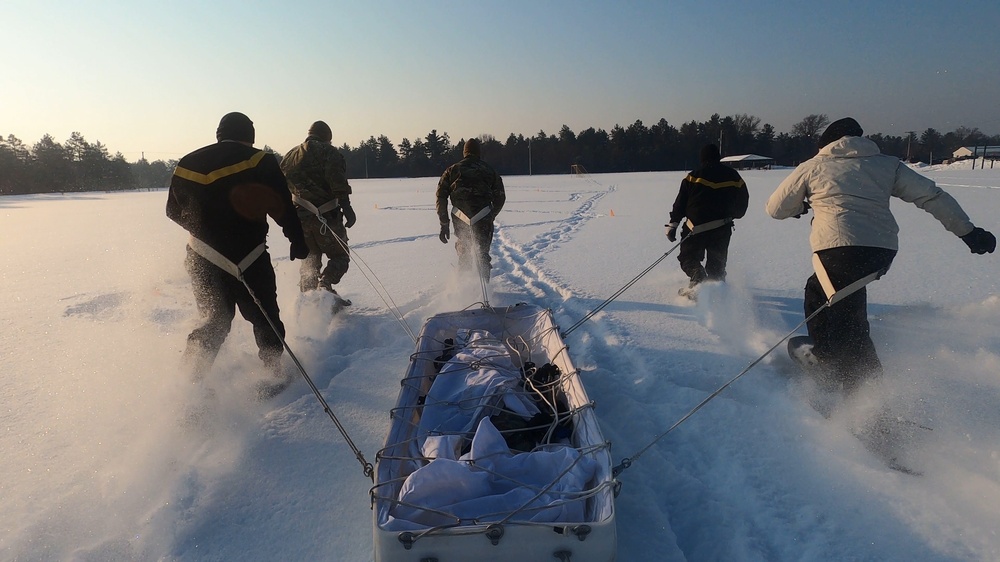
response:
M718 146L702 147L701 168L681 181L670 211L666 227L671 242L677 240L677 228L687 217L677 260L690 282L678 291L680 295L692 296L702 281L725 281L733 220L743 218L750 202L746 182L739 172L722 164L721 158Z

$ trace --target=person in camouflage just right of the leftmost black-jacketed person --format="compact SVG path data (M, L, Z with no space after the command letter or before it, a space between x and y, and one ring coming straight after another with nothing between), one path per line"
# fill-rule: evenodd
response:
M347 229L354 226L357 215L351 207L347 163L332 140L330 126L316 121L306 140L285 154L281 170L309 245L309 257L299 268L299 288L302 292L324 289L336 295L333 285L340 283L351 263ZM324 255L327 264L321 272ZM339 295L338 301L350 304Z

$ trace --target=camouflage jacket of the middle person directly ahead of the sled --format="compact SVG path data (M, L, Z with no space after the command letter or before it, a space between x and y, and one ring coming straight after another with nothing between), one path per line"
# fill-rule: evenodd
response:
M487 218L493 220L507 201L503 180L492 166L479 157L469 155L452 164L441 175L437 188L437 213L441 224L449 224L448 200L451 204L474 217L486 207L491 207Z

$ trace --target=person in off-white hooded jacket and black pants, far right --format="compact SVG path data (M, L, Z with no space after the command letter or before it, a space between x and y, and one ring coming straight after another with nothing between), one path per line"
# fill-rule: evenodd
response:
M798 218L810 208L815 213L809 243L816 273L806 281L806 317L832 293L888 271L899 248L890 197L933 215L975 254L996 249L996 237L973 225L951 195L898 158L881 154L863 134L850 117L831 123L820 136L819 154L800 164L767 201L767 213L776 219ZM881 374L864 287L817 314L807 328L813 354L846 391Z

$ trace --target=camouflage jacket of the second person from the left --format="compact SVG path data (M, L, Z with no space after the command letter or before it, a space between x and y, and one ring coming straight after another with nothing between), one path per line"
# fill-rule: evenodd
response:
M296 197L320 207L333 199L350 203L347 162L339 150L314 136L288 151L281 159L281 171Z

